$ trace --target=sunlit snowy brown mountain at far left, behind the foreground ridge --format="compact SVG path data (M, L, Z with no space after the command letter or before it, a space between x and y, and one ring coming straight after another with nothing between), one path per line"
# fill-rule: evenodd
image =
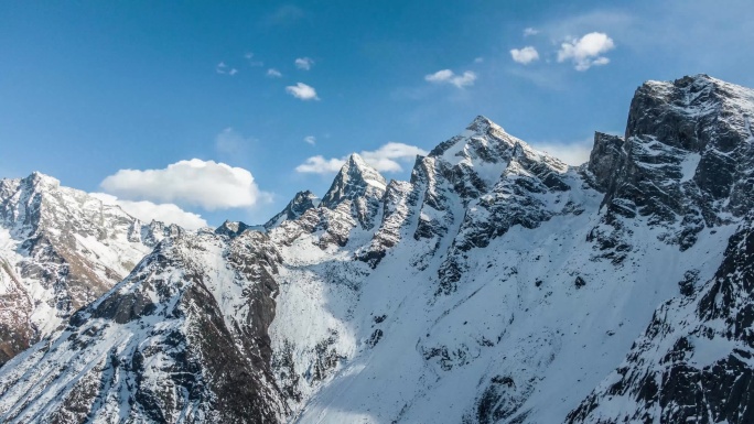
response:
M34 173L0 181L0 365L51 334L182 229Z

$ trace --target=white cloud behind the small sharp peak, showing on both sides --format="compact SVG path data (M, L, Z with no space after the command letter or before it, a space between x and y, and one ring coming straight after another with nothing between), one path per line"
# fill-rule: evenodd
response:
M377 150L363 151L359 154L366 163L379 172L400 172L402 163L412 163L417 155L427 155L427 151L403 143L389 142ZM346 157L325 159L321 155L306 159L295 167L299 173L334 174L345 164Z

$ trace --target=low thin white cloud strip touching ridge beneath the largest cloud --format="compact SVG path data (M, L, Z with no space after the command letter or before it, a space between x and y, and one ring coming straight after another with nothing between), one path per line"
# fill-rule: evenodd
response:
M158 220L165 224L176 224L190 230L207 227L207 221L200 215L185 211L174 204L158 205L147 200L120 200L118 197L105 193L90 193L90 195L100 199L105 205L120 206L128 215L144 222Z

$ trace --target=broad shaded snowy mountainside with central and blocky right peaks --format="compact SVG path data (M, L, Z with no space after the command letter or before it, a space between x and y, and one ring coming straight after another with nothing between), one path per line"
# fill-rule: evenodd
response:
M626 138L595 134L579 168L480 117L388 184L370 240L356 229L312 254L324 233L284 237L295 267L270 335L293 421L566 420L658 305L718 270L751 209L720 200L745 197L754 170L751 94L707 76L647 83ZM689 126L702 141L677 146ZM736 174L714 197L705 182L723 170L705 163L723 144Z

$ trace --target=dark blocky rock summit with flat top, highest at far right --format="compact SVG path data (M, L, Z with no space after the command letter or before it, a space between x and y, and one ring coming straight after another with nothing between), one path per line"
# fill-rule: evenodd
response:
M754 90L707 75L642 85L604 200L608 218L648 217L687 249L703 228L751 210L753 113Z

